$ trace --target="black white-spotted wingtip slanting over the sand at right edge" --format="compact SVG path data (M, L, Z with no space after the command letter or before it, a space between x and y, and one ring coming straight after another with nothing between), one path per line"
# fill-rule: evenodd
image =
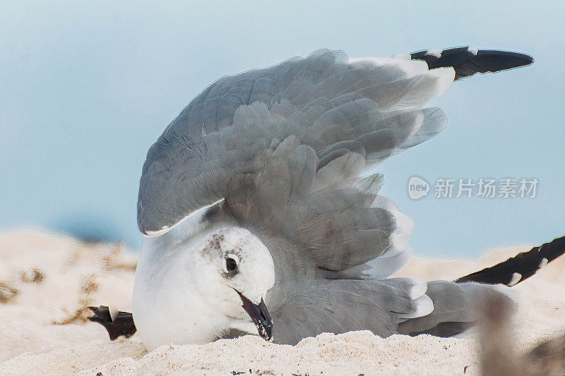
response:
M561 238L554 239L539 247L534 247L527 252L518 253L515 257L511 257L492 267L487 267L479 272L461 277L456 282L480 282L483 284L506 284L513 286L532 277L540 267L548 262L552 262L564 253L565 236L561 236ZM514 273L520 274L520 279L517 281L513 281ZM513 281L512 284L511 281Z

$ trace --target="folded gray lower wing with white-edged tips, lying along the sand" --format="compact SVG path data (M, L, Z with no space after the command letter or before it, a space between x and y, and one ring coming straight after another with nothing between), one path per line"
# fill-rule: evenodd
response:
M316 290L295 289L292 299L273 306L273 339L282 344L297 344L307 336L371 330L381 336L396 332L398 322L413 317L417 302L396 281L328 280L316 281ZM412 282L406 280L410 286ZM425 286L425 284L423 284ZM288 291L287 291L288 293ZM410 315L412 313L412 315Z

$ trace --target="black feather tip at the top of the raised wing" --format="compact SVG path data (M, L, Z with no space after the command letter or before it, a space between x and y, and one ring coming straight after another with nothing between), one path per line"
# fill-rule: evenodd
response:
M528 54L496 49L474 50L469 47L444 49L439 56L430 50L417 51L410 54L410 58L425 61L429 69L451 66L455 69L456 80L475 73L506 71L534 62L533 57Z

